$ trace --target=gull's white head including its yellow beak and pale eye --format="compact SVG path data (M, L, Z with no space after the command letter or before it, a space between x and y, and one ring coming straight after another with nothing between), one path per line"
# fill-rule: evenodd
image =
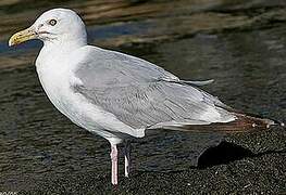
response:
M74 11L53 9L41 14L29 28L14 34L9 40L9 46L30 39L40 39L45 44L86 44L87 35L84 22Z

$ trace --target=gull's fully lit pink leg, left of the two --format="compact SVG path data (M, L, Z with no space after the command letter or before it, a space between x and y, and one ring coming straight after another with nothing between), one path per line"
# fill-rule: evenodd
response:
M116 145L111 145L111 153L110 153L111 164L112 164L112 166L111 166L111 183L113 185L119 184L117 156L119 156L119 152L117 152Z

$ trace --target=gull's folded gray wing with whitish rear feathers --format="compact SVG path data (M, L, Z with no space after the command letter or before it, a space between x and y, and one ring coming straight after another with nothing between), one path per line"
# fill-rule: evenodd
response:
M75 76L76 92L135 129L234 120L216 98L123 53L89 48Z

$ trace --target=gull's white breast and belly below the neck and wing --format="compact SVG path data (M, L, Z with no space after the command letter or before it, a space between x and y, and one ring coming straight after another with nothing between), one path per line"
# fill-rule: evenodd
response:
M50 56L50 57L49 57ZM120 143L125 135L137 135L138 130L117 120L110 113L88 102L82 94L75 93L72 86L80 83L73 69L79 53L66 55L45 55L42 52L36 61L40 83L52 104L74 123L95 132L112 143ZM77 56L76 60L73 56Z

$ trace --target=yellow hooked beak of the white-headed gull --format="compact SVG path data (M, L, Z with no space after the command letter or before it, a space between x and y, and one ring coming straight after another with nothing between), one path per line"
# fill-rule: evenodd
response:
M20 44L22 42L25 42L30 39L37 38L37 34L34 28L29 27L27 29L24 29L22 31L18 31L14 34L10 39L9 39L9 47Z

